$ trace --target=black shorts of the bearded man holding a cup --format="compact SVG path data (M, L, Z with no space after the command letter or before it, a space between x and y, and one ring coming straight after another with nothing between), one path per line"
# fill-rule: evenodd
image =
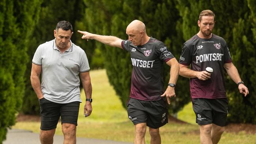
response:
M216 124L225 126L228 114L228 99L193 98L193 110L198 125Z

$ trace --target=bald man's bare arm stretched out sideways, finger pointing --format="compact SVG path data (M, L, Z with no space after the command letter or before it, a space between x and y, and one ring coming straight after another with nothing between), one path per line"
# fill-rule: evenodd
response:
M99 41L103 44L107 44L109 46L122 48L122 39L119 39L118 37L114 36L108 36L108 35L96 35L93 33L88 33L87 31L79 31L79 33L82 33L82 39L95 39L96 41Z

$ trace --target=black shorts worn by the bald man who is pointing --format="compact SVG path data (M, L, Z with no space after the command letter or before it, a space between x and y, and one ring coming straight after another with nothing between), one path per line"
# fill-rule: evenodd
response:
M127 102L128 118L135 124L147 123L148 127L157 129L168 122L167 102L143 101L130 98Z

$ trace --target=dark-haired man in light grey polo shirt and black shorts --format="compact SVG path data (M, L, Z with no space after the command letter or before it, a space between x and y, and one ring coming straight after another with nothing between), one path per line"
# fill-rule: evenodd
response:
M41 144L52 144L61 116L64 144L76 143L76 126L80 98L80 80L85 91L85 116L92 111L92 86L89 64L85 52L70 41L72 25L58 22L55 39L41 44L33 57L31 84L40 103ZM42 73L42 83L39 76Z

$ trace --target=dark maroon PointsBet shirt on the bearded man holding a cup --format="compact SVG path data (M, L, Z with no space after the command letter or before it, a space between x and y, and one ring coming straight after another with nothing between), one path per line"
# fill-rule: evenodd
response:
M194 35L183 45L179 63L189 66L191 70L204 71L206 67L213 68L211 78L202 81L190 79L191 98L226 98L224 87L224 63L232 62L226 41L212 34L210 39L201 39Z

